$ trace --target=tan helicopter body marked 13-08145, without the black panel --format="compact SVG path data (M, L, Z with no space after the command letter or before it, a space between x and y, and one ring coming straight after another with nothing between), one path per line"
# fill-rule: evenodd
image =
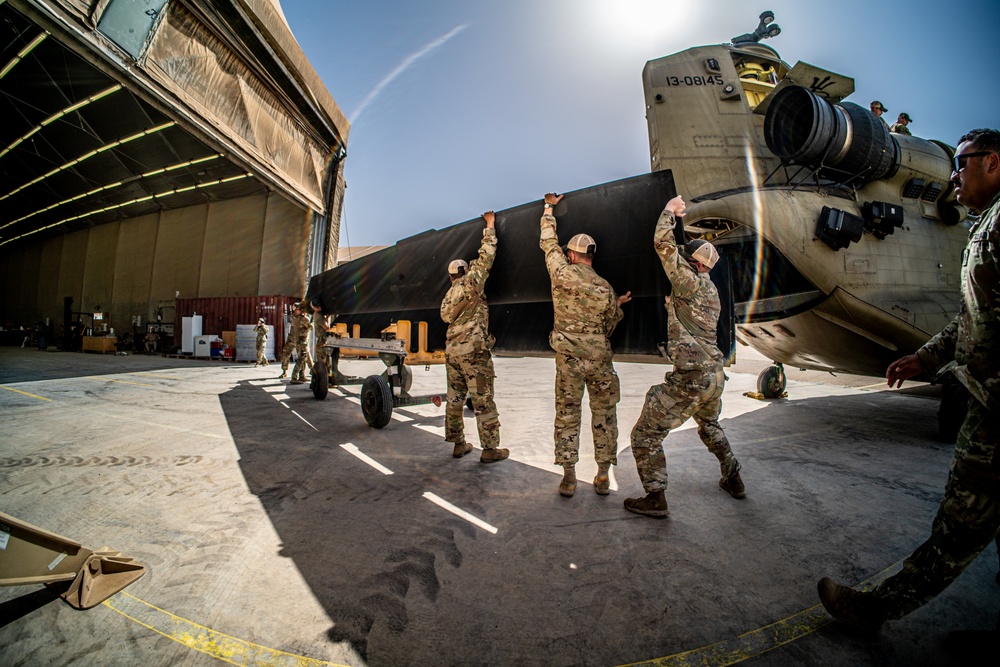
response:
M954 149L844 102L853 79L789 68L760 43L773 21L643 70L652 168L690 202L688 234L729 256L736 336L775 362L769 397L782 364L884 376L958 312L968 239Z

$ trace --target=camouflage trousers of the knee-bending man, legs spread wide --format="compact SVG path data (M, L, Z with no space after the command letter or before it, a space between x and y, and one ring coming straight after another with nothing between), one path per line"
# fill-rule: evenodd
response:
M723 477L740 471L729 440L719 425L726 375L717 370L673 371L662 384L646 392L642 414L632 428L632 456L646 493L667 488L667 460L663 439L689 417L698 423L698 436L719 459Z

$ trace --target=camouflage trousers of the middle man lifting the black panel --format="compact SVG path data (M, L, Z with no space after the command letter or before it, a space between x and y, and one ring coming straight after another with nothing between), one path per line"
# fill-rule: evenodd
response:
M580 359L556 353L556 465L580 460L580 420L583 390L590 398L590 428L594 459L618 465L618 374L608 359Z

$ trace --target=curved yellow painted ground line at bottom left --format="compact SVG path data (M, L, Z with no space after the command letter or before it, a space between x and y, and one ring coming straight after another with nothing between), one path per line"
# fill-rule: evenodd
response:
M113 595L102 604L167 639L172 639L178 644L183 644L231 665L246 665L247 667L320 667L322 665L348 667L335 662L278 651L230 637L180 616L175 616L169 611L164 611L124 591Z

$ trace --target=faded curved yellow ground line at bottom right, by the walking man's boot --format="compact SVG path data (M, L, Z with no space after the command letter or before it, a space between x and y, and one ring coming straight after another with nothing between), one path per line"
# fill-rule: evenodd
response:
M888 578L889 574L899 569L902 564L903 561L893 563L875 576L861 582L858 588L871 588ZM818 604L776 623L765 625L763 628L752 630L732 639L725 639L715 644L662 658L632 662L628 665L622 665L622 667L693 667L694 665L698 667L724 667L725 665L735 665L738 662L773 651L785 644L790 644L796 639L802 639L833 622L833 618L826 613L823 605Z

